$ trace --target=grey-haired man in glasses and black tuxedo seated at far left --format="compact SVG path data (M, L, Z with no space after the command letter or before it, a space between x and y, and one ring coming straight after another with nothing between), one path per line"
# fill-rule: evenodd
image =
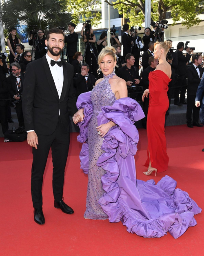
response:
M24 73L21 72L20 65L16 62L11 63L11 72L7 79L7 86L9 90L10 97L13 101L20 100L16 103L16 114L18 117L19 127L24 129L24 118L22 111L22 93L24 84Z

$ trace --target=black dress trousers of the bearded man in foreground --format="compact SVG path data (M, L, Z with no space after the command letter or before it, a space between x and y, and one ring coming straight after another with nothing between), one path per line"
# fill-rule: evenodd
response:
M53 134L37 134L39 145L37 145L37 150L33 147L33 165L31 171L31 195L34 208L42 207L43 174L50 148L53 159L53 195L56 202L62 200L64 169L69 151L69 135L62 127L60 116Z

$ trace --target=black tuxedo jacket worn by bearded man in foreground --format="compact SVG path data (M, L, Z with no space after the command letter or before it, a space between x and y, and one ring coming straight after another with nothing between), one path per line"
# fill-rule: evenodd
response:
M69 111L77 111L73 92L73 66L62 61L64 82L59 98L46 56L27 65L22 97L26 131L53 134L57 127L59 110L65 132L69 132Z

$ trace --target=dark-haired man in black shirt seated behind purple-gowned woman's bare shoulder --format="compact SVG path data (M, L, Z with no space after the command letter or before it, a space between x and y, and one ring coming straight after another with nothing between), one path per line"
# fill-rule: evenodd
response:
M118 69L117 76L124 79L128 88L128 97L135 99L137 91L142 91L139 86L141 78L138 68L134 66L135 57L133 54L128 53L125 57L126 65Z

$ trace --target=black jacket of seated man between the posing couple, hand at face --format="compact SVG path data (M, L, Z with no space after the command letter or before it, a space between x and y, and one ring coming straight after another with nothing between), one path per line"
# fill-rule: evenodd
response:
M74 77L74 86L76 88L77 97L81 93L86 93L88 91L91 91L93 89L93 86L95 85L95 76L89 73L89 77L87 79L84 78L81 74L76 74Z

